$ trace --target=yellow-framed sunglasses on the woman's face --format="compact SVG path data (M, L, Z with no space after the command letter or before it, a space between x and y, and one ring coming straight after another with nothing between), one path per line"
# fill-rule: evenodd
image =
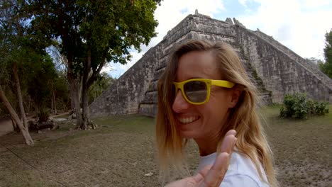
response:
M209 101L211 86L233 88L234 83L223 80L189 79L182 82L173 82L175 95L180 89L184 99L193 105L201 105Z

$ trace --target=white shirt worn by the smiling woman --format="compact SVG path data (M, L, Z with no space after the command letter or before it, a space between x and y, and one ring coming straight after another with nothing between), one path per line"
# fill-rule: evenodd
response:
M200 171L206 165L214 164L216 159L216 152L199 158L199 166L197 171ZM265 171L262 171L262 175L266 179ZM255 165L250 158L238 152L233 152L231 156L231 163L228 166L223 181L219 187L234 187L234 186L245 186L245 187L268 187L269 185L260 179L260 175L255 168Z

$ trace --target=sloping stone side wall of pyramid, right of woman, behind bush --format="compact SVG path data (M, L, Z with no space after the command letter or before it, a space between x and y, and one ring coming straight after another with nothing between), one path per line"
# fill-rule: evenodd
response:
M256 31L237 27L236 33L245 56L267 90L272 91L274 103L282 103L284 94L296 92L306 92L309 98L332 102L332 80L312 62L307 62L275 40L264 40L256 35Z

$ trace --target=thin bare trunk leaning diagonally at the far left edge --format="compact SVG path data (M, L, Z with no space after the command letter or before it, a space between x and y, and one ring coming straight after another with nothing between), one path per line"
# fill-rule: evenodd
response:
M20 118L18 118L18 115L14 111L13 107L11 106L11 103L9 103L8 99L6 98L4 91L2 91L2 87L0 85L0 98L2 102L4 103L4 106L6 106L7 110L11 114L11 118L15 121L18 128L21 130L21 133L24 137L24 140L26 141L27 145L33 145L33 140L31 138L31 135L29 134L27 128L23 125Z

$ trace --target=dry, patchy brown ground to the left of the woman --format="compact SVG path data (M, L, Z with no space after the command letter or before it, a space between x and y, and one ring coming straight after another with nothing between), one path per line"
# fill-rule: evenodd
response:
M0 186L159 186L153 121L134 132L117 122L98 130L31 133L34 147L21 146L21 136L0 137L8 150L1 152ZM131 120L143 125L143 121ZM100 124L100 123L99 123ZM66 134L66 135L64 135ZM145 176L145 174L152 176ZM2 176L1 176L2 175Z

